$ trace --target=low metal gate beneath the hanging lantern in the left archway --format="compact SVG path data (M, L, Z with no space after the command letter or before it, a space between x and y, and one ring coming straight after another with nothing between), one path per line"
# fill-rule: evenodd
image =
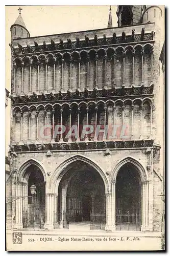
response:
M28 214L23 212L22 224L23 228L43 228L45 223L45 215L42 214Z

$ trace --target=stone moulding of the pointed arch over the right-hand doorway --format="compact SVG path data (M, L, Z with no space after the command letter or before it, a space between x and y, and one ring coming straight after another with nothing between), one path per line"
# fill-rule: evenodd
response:
M129 156L129 157L126 157L126 158L120 160L116 164L116 166L114 167L114 169L112 170L112 173L111 173L111 180L112 181L116 181L116 177L117 177L117 174L119 172L119 169L127 163L131 163L133 166L135 166L137 168L141 181L147 181L148 180L148 174L145 171L143 165L137 159Z

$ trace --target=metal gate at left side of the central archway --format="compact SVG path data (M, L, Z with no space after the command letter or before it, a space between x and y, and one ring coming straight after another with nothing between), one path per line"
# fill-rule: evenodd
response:
M54 229L68 229L68 226L68 214L65 211L59 214L54 212Z

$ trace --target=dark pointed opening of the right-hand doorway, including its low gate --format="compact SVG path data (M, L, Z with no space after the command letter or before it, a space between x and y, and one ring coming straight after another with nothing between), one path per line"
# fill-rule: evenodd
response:
M141 230L141 179L137 168L127 163L116 177L116 230Z

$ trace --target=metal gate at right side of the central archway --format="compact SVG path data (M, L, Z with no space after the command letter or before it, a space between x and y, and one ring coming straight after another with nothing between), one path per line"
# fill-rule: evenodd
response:
M106 214L90 212L90 229L105 230Z

